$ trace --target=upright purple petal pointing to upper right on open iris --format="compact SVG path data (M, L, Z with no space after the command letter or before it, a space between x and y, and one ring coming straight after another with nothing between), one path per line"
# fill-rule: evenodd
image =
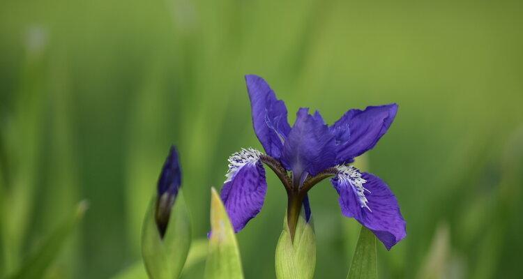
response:
M396 112L396 104L346 112L330 128L338 142L338 163L350 163L372 149L391 126Z

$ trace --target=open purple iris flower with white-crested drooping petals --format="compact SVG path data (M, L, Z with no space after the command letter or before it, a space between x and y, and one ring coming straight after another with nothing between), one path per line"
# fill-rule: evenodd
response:
M391 189L377 176L349 165L386 133L396 115L396 104L349 110L331 126L319 112L309 114L308 108L300 108L291 127L285 103L276 98L267 82L256 75L247 75L245 80L252 124L266 154L242 149L229 158L229 172L220 195L236 232L264 204L265 164L287 191L292 237L302 204L306 220L310 219L308 190L328 177L340 196L343 215L374 232L388 250L406 236L406 223Z

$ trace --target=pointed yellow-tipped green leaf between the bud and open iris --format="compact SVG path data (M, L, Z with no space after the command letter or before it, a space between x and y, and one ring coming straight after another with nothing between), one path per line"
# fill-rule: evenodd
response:
M241 279L241 257L227 211L214 188L211 189L211 239L205 278Z

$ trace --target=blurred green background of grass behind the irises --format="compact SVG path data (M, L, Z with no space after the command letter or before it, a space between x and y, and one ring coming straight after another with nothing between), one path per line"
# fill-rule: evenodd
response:
M521 1L13 1L0 3L0 277L89 210L45 278L110 278L139 261L146 204L170 144L195 239L227 158L261 149L243 75L333 123L398 103L361 168L391 186L407 238L380 278L523 272ZM238 234L246 278L274 278L285 191L268 173ZM358 225L328 181L310 193L316 278L345 278ZM201 278L204 263L183 278Z

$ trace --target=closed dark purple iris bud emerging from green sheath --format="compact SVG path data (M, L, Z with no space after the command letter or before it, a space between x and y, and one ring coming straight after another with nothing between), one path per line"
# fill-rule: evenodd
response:
M158 199L156 201L156 225L160 236L165 235L165 230L171 216L171 208L176 200L176 195L181 186L181 169L178 152L171 146L169 156L165 159L162 173L158 179Z

